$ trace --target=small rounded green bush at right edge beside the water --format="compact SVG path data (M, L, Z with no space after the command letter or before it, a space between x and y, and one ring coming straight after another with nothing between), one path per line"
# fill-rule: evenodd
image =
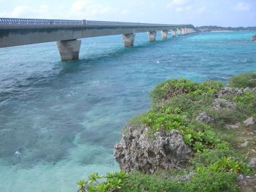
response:
M236 88L255 88L256 87L256 72L247 72L231 77L228 80L228 86Z

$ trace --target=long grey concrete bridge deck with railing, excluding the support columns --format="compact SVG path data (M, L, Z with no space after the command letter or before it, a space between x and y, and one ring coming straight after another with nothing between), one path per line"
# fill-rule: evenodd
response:
M0 47L185 27L195 29L190 24L0 18Z

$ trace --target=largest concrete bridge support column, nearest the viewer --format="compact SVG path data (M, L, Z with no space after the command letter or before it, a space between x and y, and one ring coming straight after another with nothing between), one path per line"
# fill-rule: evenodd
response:
M74 61L79 59L81 40L65 40L57 42L61 61Z

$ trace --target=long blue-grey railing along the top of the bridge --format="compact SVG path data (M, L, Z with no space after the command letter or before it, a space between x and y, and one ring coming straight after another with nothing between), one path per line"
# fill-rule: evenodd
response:
M88 25L88 26L177 26L171 24L148 24L141 22L113 22L99 20L56 20L56 19L17 19L0 18L0 26L33 26L33 25ZM185 25L179 25L185 26Z

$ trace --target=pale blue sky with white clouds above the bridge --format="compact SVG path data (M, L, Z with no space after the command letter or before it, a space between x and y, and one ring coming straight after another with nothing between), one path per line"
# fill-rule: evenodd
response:
M256 26L256 0L0 0L0 17Z

